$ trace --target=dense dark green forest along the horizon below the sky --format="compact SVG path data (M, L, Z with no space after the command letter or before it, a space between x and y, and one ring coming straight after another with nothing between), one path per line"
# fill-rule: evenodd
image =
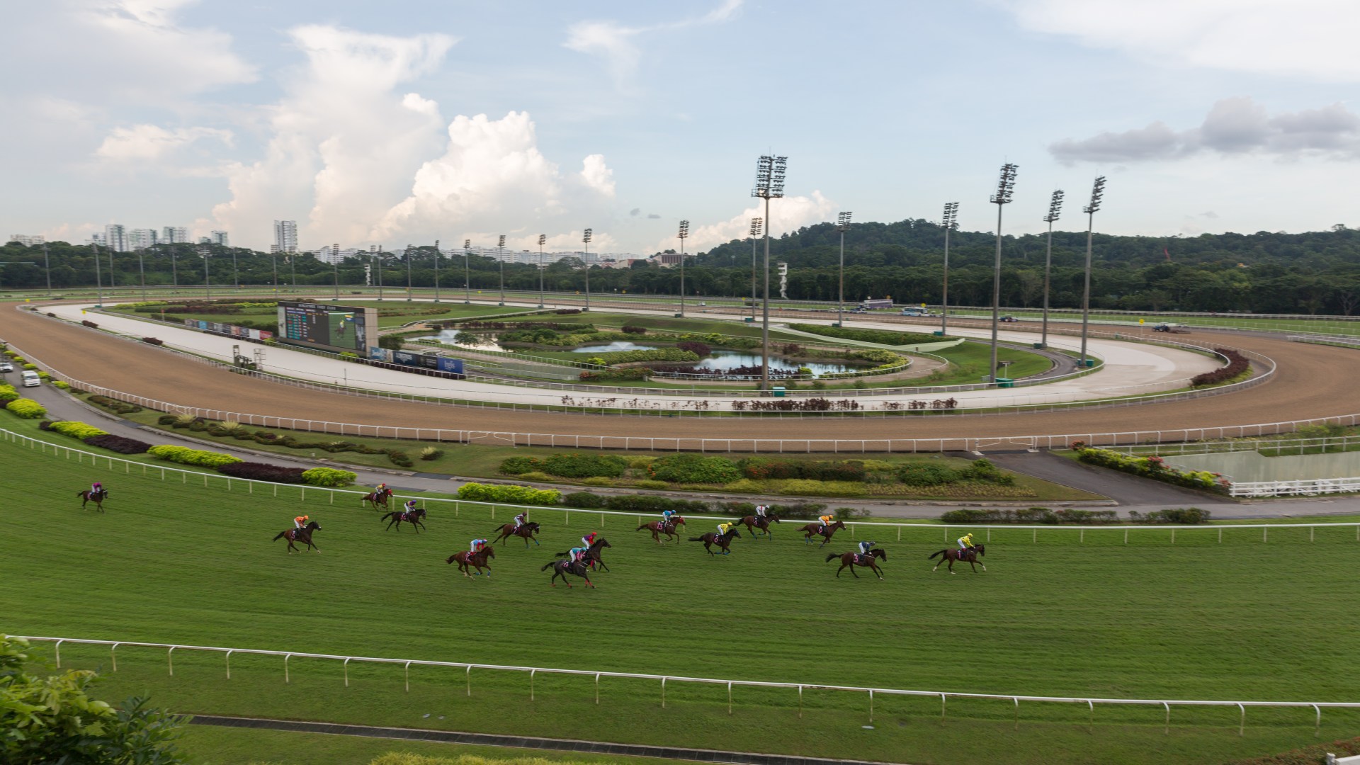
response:
M1084 231L1053 234L1053 297L1055 308L1077 308L1081 301ZM771 263L789 264L789 298L836 298L836 261L840 234L831 223L808 226L772 238ZM891 295L899 304L938 304L944 229L926 221L855 223L846 233L846 301ZM698 255L685 268L685 289L694 295L748 295L751 240L732 241ZM1002 240L1001 302L1035 306L1043 299L1046 237ZM46 256L46 261L45 261ZM991 301L996 237L953 231L949 250L949 304L989 305ZM90 245L49 242L5 245L0 259L0 289L44 289L50 263L53 289L94 286L95 253ZM140 253L99 250L101 284L203 284L205 268L214 286L364 284L370 256L351 257L333 267L310 255L292 257L218 245L156 245ZM471 256L473 290L496 290L500 265ZM464 257L439 256L439 284L464 287ZM382 253L382 283L404 289L405 252ZM435 250L412 248L409 279L413 286L435 283ZM581 263L567 259L544 274L549 291L583 291ZM536 290L539 272L529 264L506 264L511 290ZM777 282L771 280L772 284ZM636 263L632 268L590 268L593 293L677 294L680 272ZM1360 230L1334 227L1302 234L1202 234L1198 237L1112 237L1093 241L1092 308L1130 310L1205 310L1255 313L1352 314L1360 306Z

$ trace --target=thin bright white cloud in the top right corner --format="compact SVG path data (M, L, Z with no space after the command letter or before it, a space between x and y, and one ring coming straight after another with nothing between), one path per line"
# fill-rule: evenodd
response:
M1353 0L1000 0L1020 26L1157 64L1360 80Z

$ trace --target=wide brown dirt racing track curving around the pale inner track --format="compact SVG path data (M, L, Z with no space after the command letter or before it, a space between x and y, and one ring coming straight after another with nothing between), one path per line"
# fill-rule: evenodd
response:
M1360 422L1360 353L1285 338L1205 332L1198 340L1276 362L1259 385L1197 399L1059 411L944 417L665 417L515 411L363 397L237 374L226 368L113 339L15 304L0 309L0 338L58 378L109 395L174 404L204 417L348 434L435 437L490 444L704 451L936 451L1180 441L1292 430L1297 421ZM1025 325L1012 325L1010 329ZM1126 336L1148 331L1121 329ZM830 395L830 392L828 392ZM303 422L306 421L306 422ZM340 425L345 423L345 425Z

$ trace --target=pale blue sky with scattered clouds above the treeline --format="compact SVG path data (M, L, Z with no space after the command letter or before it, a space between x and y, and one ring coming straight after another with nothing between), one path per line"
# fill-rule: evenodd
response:
M0 223L703 250L938 221L994 231L1360 226L1353 0L46 0L0 4Z

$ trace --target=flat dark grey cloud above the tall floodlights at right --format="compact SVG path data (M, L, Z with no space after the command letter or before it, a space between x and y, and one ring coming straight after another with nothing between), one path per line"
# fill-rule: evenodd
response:
M1064 139L1050 144L1049 152L1066 165L1178 159L1205 152L1356 159L1360 116L1341 103L1270 116L1251 98L1224 98L1197 128L1175 131L1159 121L1118 133Z

